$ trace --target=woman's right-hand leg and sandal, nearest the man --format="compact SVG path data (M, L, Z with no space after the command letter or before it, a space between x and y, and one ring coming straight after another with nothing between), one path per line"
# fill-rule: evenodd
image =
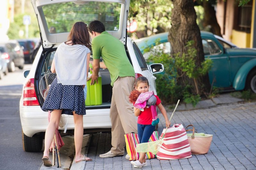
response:
M74 133L75 149L76 149L75 162L79 162L84 158L84 155L81 153L83 135L84 135L83 115L78 115L74 111L73 116L74 116L74 123L75 123L75 133ZM85 159L89 160L90 158L85 158Z

